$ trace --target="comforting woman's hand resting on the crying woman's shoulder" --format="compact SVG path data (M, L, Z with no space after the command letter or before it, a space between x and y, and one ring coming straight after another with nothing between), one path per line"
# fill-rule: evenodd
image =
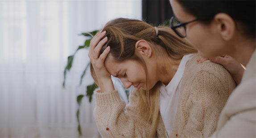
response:
M203 63L206 60L208 59L200 57L198 58L197 62ZM244 68L241 66L240 63L238 63L231 56L229 55L218 56L215 58L210 58L210 61L223 65L223 67L225 67L227 71L230 72L230 74L232 75L237 85L241 82L241 79L244 74Z

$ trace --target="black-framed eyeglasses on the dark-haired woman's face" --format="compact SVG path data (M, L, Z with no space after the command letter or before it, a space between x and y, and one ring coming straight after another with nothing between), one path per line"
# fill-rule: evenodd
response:
M179 35L181 38L185 38L186 35L186 25L189 23L192 23L194 21L197 21L198 19L192 20L190 22L186 22L181 24L181 22L175 18L174 16L172 16L172 18L170 19L170 28L173 29L174 32L176 32L177 35Z

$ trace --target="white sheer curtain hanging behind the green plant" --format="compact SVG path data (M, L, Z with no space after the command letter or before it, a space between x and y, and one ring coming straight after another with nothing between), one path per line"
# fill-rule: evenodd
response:
M78 137L76 96L93 80L88 70L78 87L89 62L80 50L63 89L67 56L83 45L79 33L117 17L141 19L141 7L140 0L0 0L0 138ZM83 137L99 136L93 108L83 99Z

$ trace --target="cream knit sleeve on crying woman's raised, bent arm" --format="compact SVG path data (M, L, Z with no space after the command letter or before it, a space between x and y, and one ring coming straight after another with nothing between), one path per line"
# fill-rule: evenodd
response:
M102 137L147 137L150 124L141 115L136 106L138 96L132 89L129 103L126 105L119 97L118 91L105 93L95 92L95 121Z

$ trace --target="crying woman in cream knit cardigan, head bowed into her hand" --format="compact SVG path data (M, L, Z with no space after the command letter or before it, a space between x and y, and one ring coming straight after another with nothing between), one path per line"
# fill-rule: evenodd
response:
M100 87L94 116L102 137L209 137L235 88L223 66L198 64L197 50L171 28L140 20L108 22L88 56ZM133 86L127 105L111 75Z

